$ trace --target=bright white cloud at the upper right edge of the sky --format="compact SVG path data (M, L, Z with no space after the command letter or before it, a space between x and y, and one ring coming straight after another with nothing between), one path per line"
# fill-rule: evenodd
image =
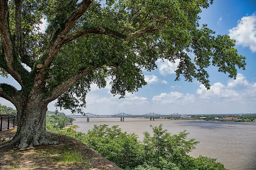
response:
M236 44L256 52L256 13L238 20L237 26L229 30L229 36L236 40Z

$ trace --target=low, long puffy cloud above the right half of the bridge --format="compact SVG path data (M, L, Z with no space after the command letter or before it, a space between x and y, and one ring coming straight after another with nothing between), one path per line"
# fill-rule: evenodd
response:
M170 92L170 93L161 93L158 96L154 96L152 98L152 101L154 103L159 103L159 104L189 104L193 103L195 101L195 96L186 94L183 95L183 93L180 92Z

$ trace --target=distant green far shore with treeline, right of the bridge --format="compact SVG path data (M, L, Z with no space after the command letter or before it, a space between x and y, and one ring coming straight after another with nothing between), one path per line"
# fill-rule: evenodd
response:
M201 114L199 115L191 115L192 118L199 118L202 117ZM256 113L252 114L204 114L203 117L207 117L210 119L214 119L214 117L223 118L223 117L236 117L238 119L249 119L249 120L255 120L256 119Z

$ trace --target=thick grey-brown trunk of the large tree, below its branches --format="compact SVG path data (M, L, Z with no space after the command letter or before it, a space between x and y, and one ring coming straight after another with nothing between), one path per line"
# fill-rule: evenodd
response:
M17 132L11 143L15 147L25 148L55 143L49 141L46 134L45 117L47 104L42 100L30 100L22 108L17 109Z

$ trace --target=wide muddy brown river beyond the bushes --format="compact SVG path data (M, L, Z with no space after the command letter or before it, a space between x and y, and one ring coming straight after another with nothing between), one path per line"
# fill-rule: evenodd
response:
M87 133L94 124L119 125L122 131L136 133L143 140L143 132L152 133L150 124L163 128L169 133L178 134L187 130L188 138L195 138L200 143L190 155L199 155L217 158L217 162L225 165L230 170L256 170L256 123L249 122L218 122L196 120L155 120L125 118L77 118L74 124L80 128L78 132Z

